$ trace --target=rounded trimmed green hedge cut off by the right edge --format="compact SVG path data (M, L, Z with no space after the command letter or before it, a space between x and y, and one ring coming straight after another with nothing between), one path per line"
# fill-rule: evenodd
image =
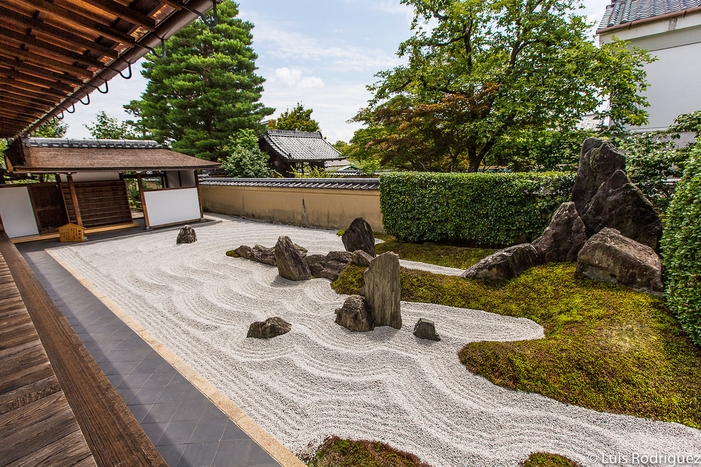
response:
M701 146L676 186L662 234L667 304L691 340L701 345Z

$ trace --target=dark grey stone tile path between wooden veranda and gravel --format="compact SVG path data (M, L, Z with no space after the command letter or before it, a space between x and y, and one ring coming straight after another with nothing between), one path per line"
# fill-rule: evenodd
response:
M280 466L44 251L55 241L16 246L169 466Z

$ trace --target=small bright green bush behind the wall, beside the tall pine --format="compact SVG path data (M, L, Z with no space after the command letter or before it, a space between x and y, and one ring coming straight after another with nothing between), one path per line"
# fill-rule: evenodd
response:
M226 175L248 179L271 176L268 155L260 150L258 137L250 128L238 130L226 148L229 157L222 162Z

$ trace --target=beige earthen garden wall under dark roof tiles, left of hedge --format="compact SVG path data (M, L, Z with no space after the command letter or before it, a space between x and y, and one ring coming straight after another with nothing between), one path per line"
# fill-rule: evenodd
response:
M379 190L322 190L200 185L205 211L315 227L344 229L364 217L383 232Z

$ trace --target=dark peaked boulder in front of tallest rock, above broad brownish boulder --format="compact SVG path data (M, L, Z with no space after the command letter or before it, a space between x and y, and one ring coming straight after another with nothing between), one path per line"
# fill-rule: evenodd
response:
M655 250L662 237L660 216L622 170L616 170L601 183L582 213L582 220L590 236L605 227L613 228Z

